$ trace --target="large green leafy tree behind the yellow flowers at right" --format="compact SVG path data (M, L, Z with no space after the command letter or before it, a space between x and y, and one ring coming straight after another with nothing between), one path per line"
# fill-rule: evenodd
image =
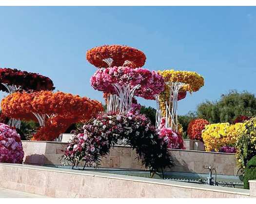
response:
M256 115L256 97L254 94L238 93L233 90L221 95L218 101L206 101L197 107L198 118L206 119L210 123L232 123L239 115Z

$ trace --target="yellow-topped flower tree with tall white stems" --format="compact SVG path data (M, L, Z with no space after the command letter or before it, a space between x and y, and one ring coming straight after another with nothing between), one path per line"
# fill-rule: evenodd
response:
M165 127L178 131L177 101L179 97L182 98L179 93L197 92L204 85L204 79L196 72L188 71L164 70L158 71L158 74L164 78L167 93L169 89L168 98L166 98L166 93L161 93L162 97L161 94L159 97L165 99L165 107L160 107L161 112L165 112L165 115L162 115L166 118Z

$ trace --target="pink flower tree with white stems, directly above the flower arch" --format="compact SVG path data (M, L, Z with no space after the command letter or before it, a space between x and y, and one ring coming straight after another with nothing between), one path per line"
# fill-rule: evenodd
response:
M128 111L133 97L155 99L164 89L164 80L156 72L143 68L99 68L90 79L98 91L109 94L107 111Z

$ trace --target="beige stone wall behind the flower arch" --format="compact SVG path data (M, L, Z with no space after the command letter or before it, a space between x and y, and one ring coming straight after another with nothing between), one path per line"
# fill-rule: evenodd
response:
M54 164L60 165L59 158L62 149L67 143L22 141L24 149L24 164ZM217 174L236 175L236 155L217 152L205 152L195 150L170 149L175 161L171 171L208 173L203 165L214 164L217 166ZM130 147L116 146L111 148L110 154L102 158L101 167L144 169L144 166L136 159L136 152Z

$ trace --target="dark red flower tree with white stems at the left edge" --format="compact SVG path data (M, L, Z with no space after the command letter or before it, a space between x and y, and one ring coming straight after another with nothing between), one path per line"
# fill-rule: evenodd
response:
M17 69L0 68L1 91L11 94L17 91L33 92L54 89L52 80L46 76ZM8 125L20 129L20 120L11 118Z

